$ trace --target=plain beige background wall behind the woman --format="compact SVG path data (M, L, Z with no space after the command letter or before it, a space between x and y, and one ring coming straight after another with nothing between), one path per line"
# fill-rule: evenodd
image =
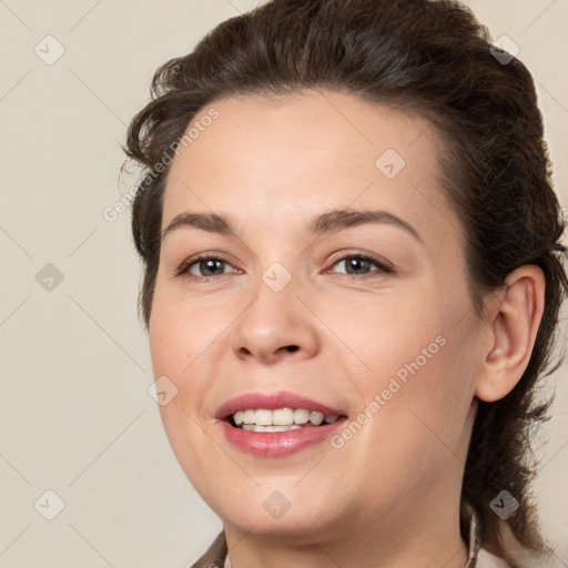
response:
M182 568L221 528L180 469L146 392L130 213L109 222L102 212L129 189L118 183L119 144L154 69L255 3L0 1L1 568ZM534 72L567 205L568 0L469 6ZM51 65L44 59L58 45L48 34L64 48ZM47 263L64 277L51 291L36 277ZM564 365L554 376L536 485L559 567L568 566L567 375ZM57 513L48 489L64 501L53 520L39 513Z

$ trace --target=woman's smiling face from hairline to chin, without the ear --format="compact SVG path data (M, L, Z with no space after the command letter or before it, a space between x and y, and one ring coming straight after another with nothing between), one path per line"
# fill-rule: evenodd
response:
M189 479L280 538L455 509L480 326L433 128L326 91L212 108L171 166L149 324Z

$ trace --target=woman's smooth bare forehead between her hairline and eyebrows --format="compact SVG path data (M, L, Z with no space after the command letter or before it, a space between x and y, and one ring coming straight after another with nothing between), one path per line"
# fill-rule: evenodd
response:
M405 216L432 239L459 230L440 191L440 143L417 115L329 91L232 97L204 108L186 133L162 229L197 211L229 213L243 230L286 220L301 230L322 210L349 206Z

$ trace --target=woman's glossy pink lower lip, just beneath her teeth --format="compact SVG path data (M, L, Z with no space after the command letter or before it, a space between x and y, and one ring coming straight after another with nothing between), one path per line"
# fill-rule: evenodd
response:
M241 452L255 456L286 456L328 439L336 429L343 427L346 418L333 424L308 426L287 432L248 432L220 420L226 439Z

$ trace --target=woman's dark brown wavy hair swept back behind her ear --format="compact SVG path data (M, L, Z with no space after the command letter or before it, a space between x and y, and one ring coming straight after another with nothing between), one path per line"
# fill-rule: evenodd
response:
M148 327L169 172L156 164L164 156L171 162L202 108L234 94L331 89L434 124L445 142L443 189L466 233L477 315L485 293L518 266L537 264L546 277L528 367L506 397L479 403L462 490L463 511L473 507L479 515L484 545L525 566L525 552L547 551L529 491L530 439L550 404L537 404L536 385L559 366L551 355L568 280L565 222L534 82L520 61L497 55L487 30L454 1L273 0L222 22L192 53L158 69L152 101L132 120L125 152L144 168L132 231L144 262L139 307ZM504 489L520 503L507 520L489 507ZM462 530L465 537L465 523Z

